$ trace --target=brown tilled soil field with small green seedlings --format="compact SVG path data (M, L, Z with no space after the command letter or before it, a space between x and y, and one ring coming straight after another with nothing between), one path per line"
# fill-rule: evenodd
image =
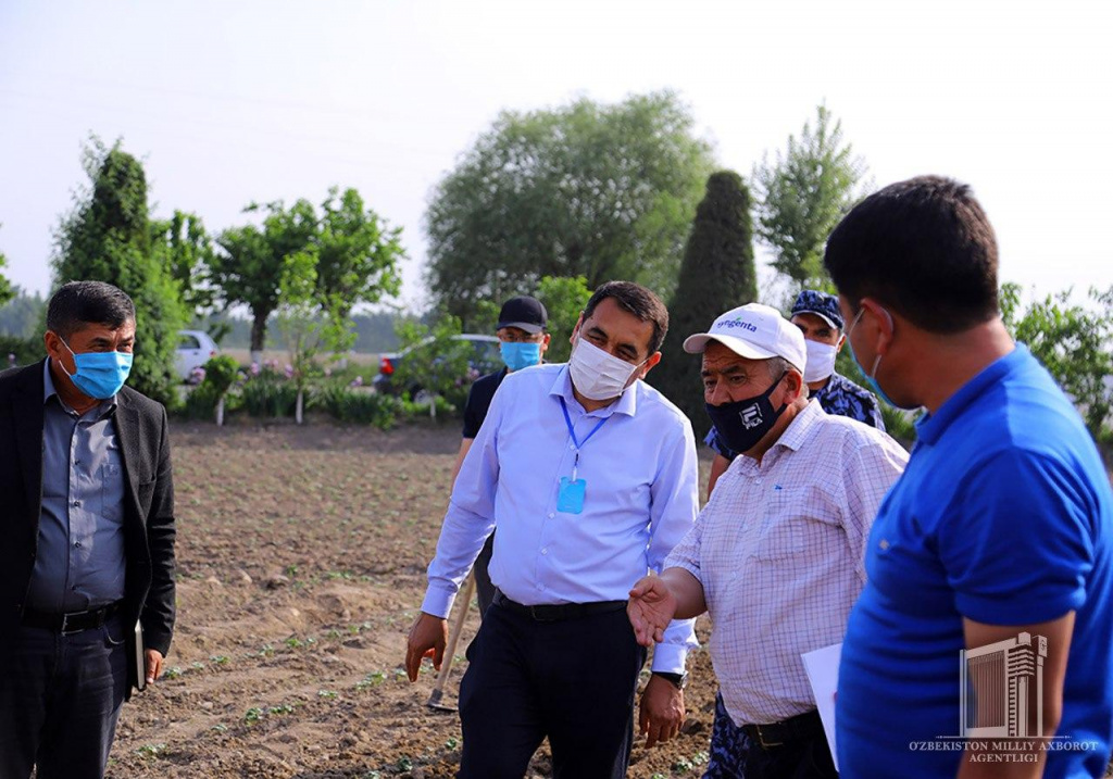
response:
M460 722L425 706L435 672L411 684L401 667L459 444L454 425L176 424L169 671L125 706L109 776L454 776ZM477 627L472 609L447 702ZM706 617L699 628L706 642ZM639 743L631 777L700 775L715 701L706 650L689 670L684 732ZM528 776L550 775L543 747Z

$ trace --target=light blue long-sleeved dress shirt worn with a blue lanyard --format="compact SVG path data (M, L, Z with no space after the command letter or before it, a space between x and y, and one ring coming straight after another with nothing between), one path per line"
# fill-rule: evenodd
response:
M577 453L561 398L582 445L579 514L556 510ZM489 572L506 598L525 605L627 600L691 529L698 501L691 423L659 392L638 381L589 413L572 394L567 365L514 371L460 469L422 611L447 617L495 524ZM693 645L693 620L673 622L653 670L683 670Z

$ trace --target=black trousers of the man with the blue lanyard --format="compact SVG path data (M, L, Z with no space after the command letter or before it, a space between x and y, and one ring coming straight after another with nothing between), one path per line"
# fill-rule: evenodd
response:
M619 779L646 650L626 610L558 622L492 605L460 684L462 779L521 779L548 736L555 779Z

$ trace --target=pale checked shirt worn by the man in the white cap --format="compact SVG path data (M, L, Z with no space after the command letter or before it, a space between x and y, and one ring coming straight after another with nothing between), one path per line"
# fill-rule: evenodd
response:
M700 580L711 661L736 724L816 708L800 654L843 640L869 527L908 454L812 401L759 465L736 457L667 568Z

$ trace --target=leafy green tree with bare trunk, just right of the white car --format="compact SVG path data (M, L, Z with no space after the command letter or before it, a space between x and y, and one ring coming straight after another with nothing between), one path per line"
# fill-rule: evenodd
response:
M314 250L317 216L313 204L301 199L289 208L280 200L252 204L245 213L265 210L263 228L233 227L217 236L223 252L214 253L209 277L225 305L243 304L252 312L252 359L262 362L267 317L283 302L282 280L295 255Z

